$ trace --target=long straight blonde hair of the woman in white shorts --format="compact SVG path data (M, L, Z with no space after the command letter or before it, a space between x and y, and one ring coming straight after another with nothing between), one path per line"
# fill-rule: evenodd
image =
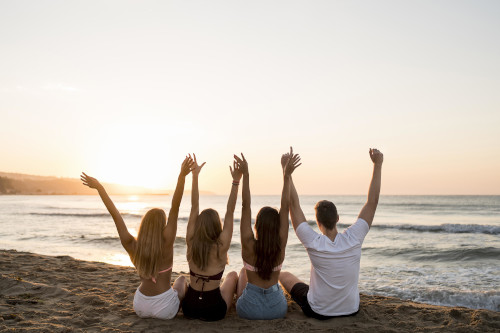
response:
M143 278L157 278L160 263L163 259L163 228L166 226L167 216L163 209L153 208L142 218L137 245L132 263L139 276Z

